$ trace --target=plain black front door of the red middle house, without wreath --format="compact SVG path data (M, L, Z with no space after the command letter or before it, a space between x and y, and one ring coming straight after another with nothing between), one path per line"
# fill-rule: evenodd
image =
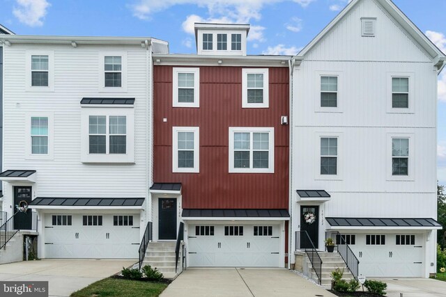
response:
M176 198L158 200L158 239L176 239Z

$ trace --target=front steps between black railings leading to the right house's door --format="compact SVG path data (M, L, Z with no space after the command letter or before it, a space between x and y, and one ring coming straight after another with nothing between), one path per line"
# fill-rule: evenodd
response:
M336 268L344 268L343 280L349 281L353 280L353 275L348 270L344 260L341 258L341 255L337 252L318 252L322 259L322 271L321 271L321 285L330 289L332 284L332 276L331 273ZM306 257L307 262L307 271L310 272L310 275L307 275L309 278L318 282L318 277L316 272L312 268L312 263L309 262L308 257Z

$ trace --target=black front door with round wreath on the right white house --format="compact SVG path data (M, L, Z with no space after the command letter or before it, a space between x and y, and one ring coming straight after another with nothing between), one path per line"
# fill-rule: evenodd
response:
M314 222L307 222L305 215L314 214ZM314 248L318 248L318 231L319 231L319 207L318 206L301 206L300 207L300 248L312 248L310 240L314 244ZM309 238L308 238L309 237Z

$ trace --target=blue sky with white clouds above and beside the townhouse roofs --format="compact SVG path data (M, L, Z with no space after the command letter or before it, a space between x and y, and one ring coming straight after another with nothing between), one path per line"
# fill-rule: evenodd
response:
M348 0L0 0L0 24L23 35L151 36L194 53L194 22L252 25L248 54L296 54ZM445 0L394 3L446 52ZM446 185L446 69L438 86L438 179Z

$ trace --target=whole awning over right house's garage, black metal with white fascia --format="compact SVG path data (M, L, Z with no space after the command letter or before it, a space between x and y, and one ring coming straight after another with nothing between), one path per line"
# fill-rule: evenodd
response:
M325 218L332 230L443 229L433 218Z

